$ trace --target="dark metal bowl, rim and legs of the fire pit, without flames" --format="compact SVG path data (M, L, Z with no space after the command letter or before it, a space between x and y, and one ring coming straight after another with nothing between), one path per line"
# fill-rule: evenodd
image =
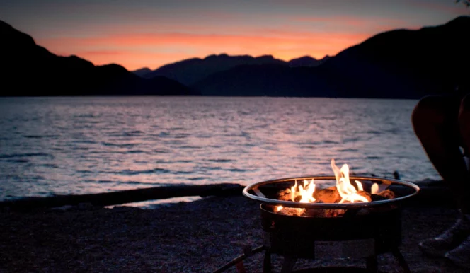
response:
M333 176L307 176L257 182L243 189L243 195L260 204L265 258L263 272L270 272L270 255L282 255L285 260L281 272L292 272L298 258L337 259L365 258L367 272L377 271L377 255L391 252L404 272L409 267L399 252L401 245L401 206L403 199L419 192L411 182L389 178L351 176L351 181L361 182L366 192L374 183L379 189L394 192L393 199L355 203L300 203L276 199L280 190L302 185L304 180L314 180L317 187L331 181ZM324 183L323 183L324 184ZM355 183L352 183L355 185ZM328 187L324 185L323 187ZM276 206L302 209L343 210L338 216L294 216L275 211ZM321 214L323 215L323 214ZM347 270L346 270L347 271Z

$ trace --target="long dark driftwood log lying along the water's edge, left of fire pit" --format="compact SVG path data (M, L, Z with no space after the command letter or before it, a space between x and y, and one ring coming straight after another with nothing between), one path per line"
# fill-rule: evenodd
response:
M88 203L93 206L111 206L142 202L154 199L168 199L186 196L234 196L241 195L243 186L238 184L211 185L175 185L167 187L149 187L137 190L122 190L119 192L103 192L98 194L56 195L53 197L26 197L23 199L0 202L0 209L8 207L16 211L31 209L75 206Z

